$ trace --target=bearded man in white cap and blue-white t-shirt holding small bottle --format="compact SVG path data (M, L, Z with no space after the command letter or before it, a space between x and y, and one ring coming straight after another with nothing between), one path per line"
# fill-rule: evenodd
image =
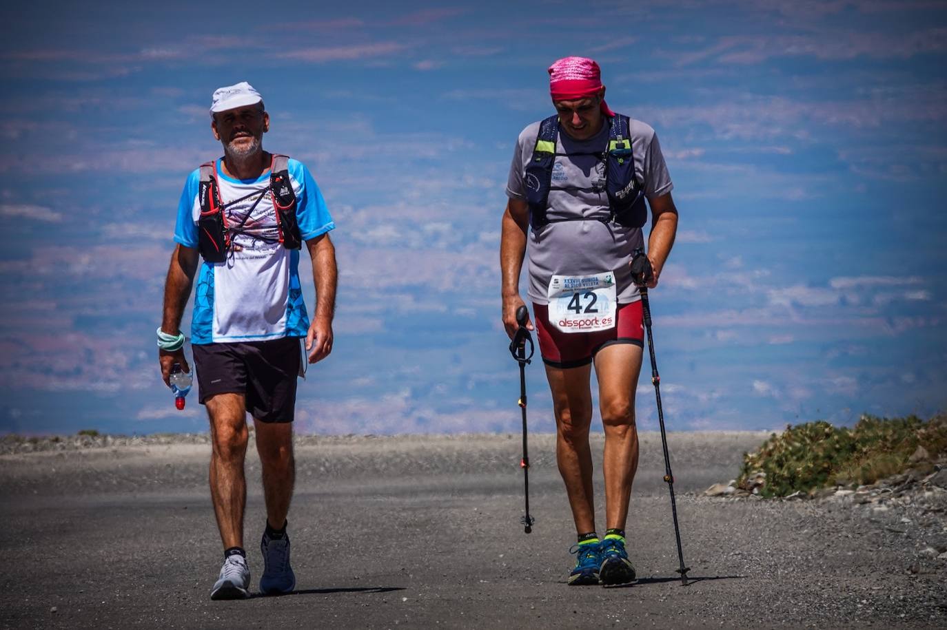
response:
M158 347L166 384L174 363L189 371L180 324L203 257L191 347L200 402L210 418L210 496L224 549L210 596L238 599L249 597L250 587L243 549L247 412L256 428L266 499L259 590L295 588L286 516L295 479L300 340L310 363L331 353L337 272L329 232L335 225L309 169L263 150L270 116L249 83L214 92L210 117L223 157L192 171L181 194ZM297 271L303 243L313 262L312 324Z

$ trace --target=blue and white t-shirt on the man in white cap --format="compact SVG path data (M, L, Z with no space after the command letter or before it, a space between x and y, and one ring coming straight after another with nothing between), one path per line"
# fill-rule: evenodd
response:
M269 191L270 171L255 180L237 180L223 173L220 159L215 167L232 247L222 263L204 261L201 265L190 325L191 342L305 337L309 316L299 286L299 250L288 250L278 242L277 216ZM309 169L290 159L288 170L303 240L334 229L326 201ZM200 168L194 169L178 204L174 240L185 247L198 246L200 180Z

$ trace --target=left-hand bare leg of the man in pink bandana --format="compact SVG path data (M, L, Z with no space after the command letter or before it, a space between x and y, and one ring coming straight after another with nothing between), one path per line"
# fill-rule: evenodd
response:
M545 366L556 413L556 462L565 482L577 534L595 532L595 495L592 489L592 366L560 369Z

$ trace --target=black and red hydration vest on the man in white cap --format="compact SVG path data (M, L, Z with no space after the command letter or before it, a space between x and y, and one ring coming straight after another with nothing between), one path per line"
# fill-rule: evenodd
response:
M302 236L299 234L299 224L295 216L296 200L288 165L288 156L274 154L273 161L270 163L269 184L265 188L250 193L247 197L259 193L262 199L267 192L271 194L273 209L277 215L279 242L288 250L298 250L302 247ZM235 201L243 201L247 197ZM206 162L201 165L201 181L197 198L201 202L201 216L197 219L198 249L206 262L223 262L230 250L231 231L239 231L241 226L227 225L227 217L223 212L221 201L221 188L217 183L216 162Z

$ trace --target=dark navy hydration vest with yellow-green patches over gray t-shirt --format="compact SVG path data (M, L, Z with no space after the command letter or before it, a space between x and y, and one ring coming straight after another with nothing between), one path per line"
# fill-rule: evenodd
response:
M529 222L533 231L549 223L560 221L600 220L603 223L615 221L625 227L641 227L648 220L648 208L645 206L644 185L634 177L634 159L632 154L631 121L628 116L615 114L608 118L608 145L597 153L557 153L556 141L559 138L559 115L546 118L539 126L536 147L526 167L527 203L529 204ZM567 219L547 219L550 190L589 190L601 192L599 187L577 188L576 186L552 185L552 166L557 156L596 155L605 159L605 192L608 194L609 216L602 218L571 217Z

